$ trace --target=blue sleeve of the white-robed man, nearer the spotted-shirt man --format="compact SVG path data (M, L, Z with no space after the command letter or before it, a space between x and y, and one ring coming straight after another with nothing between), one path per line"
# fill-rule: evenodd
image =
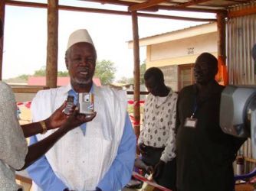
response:
M117 157L113 160L110 170L100 180L98 188L103 191L117 191L129 182L136 155L136 136L129 115L126 115L126 123L123 128L123 137L117 151Z

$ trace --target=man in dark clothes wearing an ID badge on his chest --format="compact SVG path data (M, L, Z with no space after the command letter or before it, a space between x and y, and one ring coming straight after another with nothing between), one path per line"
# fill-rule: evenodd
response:
M179 191L231 191L232 162L245 141L222 132L219 107L224 86L218 85L218 60L202 53L195 61L195 84L177 102L177 188Z

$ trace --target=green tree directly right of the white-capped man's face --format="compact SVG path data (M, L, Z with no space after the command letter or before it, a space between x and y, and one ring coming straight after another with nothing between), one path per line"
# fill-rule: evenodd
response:
M100 78L100 82L103 85L107 85L113 83L116 71L117 69L115 68L113 62L110 60L100 60L97 61L94 76Z

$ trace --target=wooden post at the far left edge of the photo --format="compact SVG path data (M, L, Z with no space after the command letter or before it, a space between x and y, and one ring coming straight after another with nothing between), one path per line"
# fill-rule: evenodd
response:
M0 1L0 19L2 21L3 35L0 37L0 80L2 80L2 57L4 50L4 27L5 27L5 0Z

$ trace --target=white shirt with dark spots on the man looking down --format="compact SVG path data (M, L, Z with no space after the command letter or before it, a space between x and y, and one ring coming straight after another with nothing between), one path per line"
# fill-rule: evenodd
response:
M178 95L170 90L166 97L146 97L143 127L138 143L151 147L165 147L161 160L167 162L176 157L176 102Z

